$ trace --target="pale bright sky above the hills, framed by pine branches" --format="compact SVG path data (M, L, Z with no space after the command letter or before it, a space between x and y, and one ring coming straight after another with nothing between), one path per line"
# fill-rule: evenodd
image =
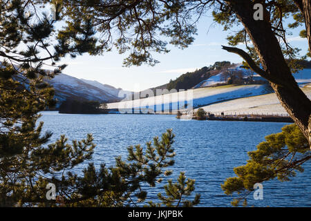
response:
M64 58L62 63L68 64L63 73L79 79L96 80L123 90L140 91L167 84L170 79L214 64L216 61L242 62L241 57L221 49L228 45L226 37L230 32L224 32L223 27L215 24L211 17L203 17L198 23L198 35L188 48L181 50L170 46L167 54L154 53L153 57L160 61L156 66L122 67L126 55L120 55L116 50L106 52L102 56L82 55L75 59ZM305 54L308 47L306 39L299 37L302 28L291 30L289 37L292 46L301 48ZM245 46L238 46L244 49Z

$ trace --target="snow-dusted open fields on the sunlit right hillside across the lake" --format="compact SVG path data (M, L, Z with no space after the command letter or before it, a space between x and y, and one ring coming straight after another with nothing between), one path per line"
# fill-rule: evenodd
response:
M246 73L246 70L235 66L232 69L242 70ZM194 86L191 91L191 98L188 97L185 104L193 104L194 108L205 106L205 110L209 112L214 111L245 111L245 112L268 112L276 111L285 113L283 107L279 104L279 99L272 93L273 91L265 84L255 85L241 85L241 86L214 86L214 84L224 83L221 81L221 73L209 77L200 82L200 84ZM254 75L254 77L260 78L260 76ZM304 87L303 90L310 88L311 83L311 69L300 70L294 74L294 78L299 83L299 86ZM309 84L309 85L308 85ZM209 86L209 87L206 87ZM311 89L311 88L310 88ZM311 90L310 90L311 91ZM272 94L270 94L272 93ZM309 93L309 90L308 90ZM270 94L270 95L267 95ZM176 111L182 101L183 93L170 93L167 95L148 97L136 99L134 101L124 101L108 104L108 108L149 108L153 111L162 109L163 111ZM258 96L263 95L264 97ZM256 97L254 97L256 96ZM311 96L311 93L310 93ZM180 98L181 97L181 98ZM249 97L247 99L241 99ZM259 98L258 98L259 97ZM259 103L258 103L259 102Z

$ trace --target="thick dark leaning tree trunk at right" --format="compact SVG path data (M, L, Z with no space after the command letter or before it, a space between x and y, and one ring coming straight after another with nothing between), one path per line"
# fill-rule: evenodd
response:
M297 85L288 64L286 64L279 41L272 31L269 16L265 16L264 20L256 21L253 17L254 3L249 0L227 1L227 3L236 13L252 40L265 75L267 75L265 78L269 79L282 106L301 128L303 135L311 144L309 130L311 102ZM268 12L265 11L265 13L267 15Z

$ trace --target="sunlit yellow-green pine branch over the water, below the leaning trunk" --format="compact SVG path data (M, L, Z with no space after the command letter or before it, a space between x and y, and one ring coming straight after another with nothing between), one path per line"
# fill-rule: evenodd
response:
M274 178L290 181L296 172L303 172L301 165L311 159L310 152L308 140L299 127L296 124L284 126L281 133L265 137L256 151L249 151L247 164L234 168L237 176L227 178L221 186L227 195L235 194L234 206L242 200L246 205L254 184Z

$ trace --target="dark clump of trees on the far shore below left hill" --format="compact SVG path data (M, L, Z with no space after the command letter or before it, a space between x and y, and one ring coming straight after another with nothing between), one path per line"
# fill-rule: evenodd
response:
M100 108L102 106L102 108ZM59 106L59 113L72 114L99 114L107 113L106 105L95 101L77 101L74 99L67 99Z

